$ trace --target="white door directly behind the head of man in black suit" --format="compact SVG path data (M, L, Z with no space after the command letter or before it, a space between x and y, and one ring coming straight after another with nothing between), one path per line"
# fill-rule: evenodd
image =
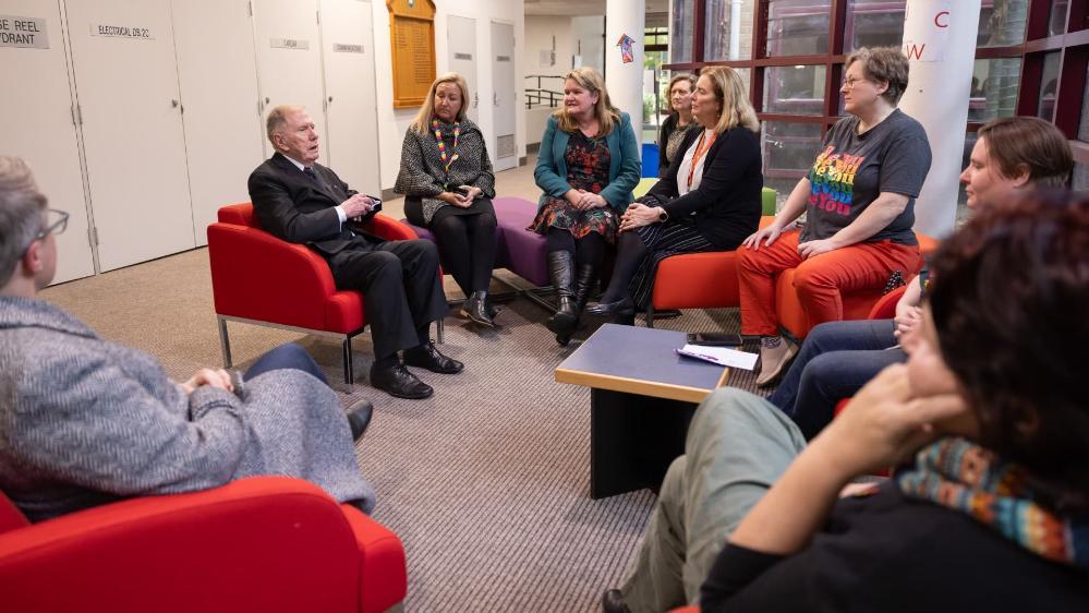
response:
M279 105L306 107L322 139L322 164L331 165L317 0L254 0L253 4L263 117Z

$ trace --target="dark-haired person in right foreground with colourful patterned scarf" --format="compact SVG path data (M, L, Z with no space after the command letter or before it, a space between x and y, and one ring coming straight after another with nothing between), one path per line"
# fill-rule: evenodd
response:
M808 446L751 394L703 402L605 611L1089 610L1089 200L982 211L932 266L908 363Z

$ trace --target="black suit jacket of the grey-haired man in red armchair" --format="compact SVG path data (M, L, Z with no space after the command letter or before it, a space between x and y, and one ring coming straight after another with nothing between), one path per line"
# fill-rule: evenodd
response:
M261 227L288 242L305 243L326 257L353 243L382 242L373 235L353 232L348 221L340 224L334 207L358 192L320 164L314 165L314 172L322 185L276 153L250 175L250 200ZM365 219L372 216L374 212Z

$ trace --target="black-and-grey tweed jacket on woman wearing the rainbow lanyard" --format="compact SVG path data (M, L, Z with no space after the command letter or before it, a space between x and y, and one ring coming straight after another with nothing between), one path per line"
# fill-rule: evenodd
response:
M472 185L480 188L485 197L495 197L495 173L487 156L484 133L468 117L461 120L461 135L458 136L458 159L446 171L438 153L435 133L429 130L420 134L411 127L404 133L401 145L401 169L397 173L394 191L409 197L421 199L424 220L449 204L435 199L448 191L447 185Z

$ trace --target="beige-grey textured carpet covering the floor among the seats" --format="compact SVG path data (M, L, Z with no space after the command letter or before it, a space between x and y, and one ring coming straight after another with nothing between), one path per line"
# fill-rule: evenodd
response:
M531 171L500 173L500 193L533 197L525 193ZM221 363L205 249L43 296L102 337L153 353L176 378ZM367 386L370 337L355 342L359 385L337 385L346 402L365 395L376 407L358 446L360 469L378 492L375 519L408 552L407 611L597 611L602 590L620 581L636 551L654 496L643 490L590 500L590 394L553 380L571 349L555 344L542 325L546 316L517 299L499 314L501 328L481 333L451 312L441 350L464 361L465 371L424 372L436 389L426 400ZM688 311L658 326L736 330L737 317L736 310ZM231 338L237 365L299 341L330 381L340 381L335 341L242 324L231 324ZM736 373L730 384L751 388L752 376Z

